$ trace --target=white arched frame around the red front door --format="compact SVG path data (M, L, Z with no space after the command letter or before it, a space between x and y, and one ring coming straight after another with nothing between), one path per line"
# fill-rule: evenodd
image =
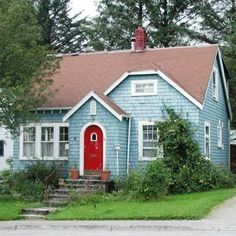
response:
M103 158L102 158L103 167L102 169L103 170L106 169L106 130L104 126L98 122L89 122L85 124L80 131L80 174L81 175L84 175L84 134L85 134L86 129L92 125L98 126L102 130L102 133L103 133Z

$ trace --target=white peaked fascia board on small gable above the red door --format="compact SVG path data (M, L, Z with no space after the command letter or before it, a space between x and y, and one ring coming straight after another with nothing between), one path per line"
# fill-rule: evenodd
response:
M91 97L95 98L103 107L112 113L118 120L122 121L126 115L120 115L113 110L107 103L105 103L94 91L90 91L77 105L75 105L64 117L63 122L68 120L81 106L83 106Z

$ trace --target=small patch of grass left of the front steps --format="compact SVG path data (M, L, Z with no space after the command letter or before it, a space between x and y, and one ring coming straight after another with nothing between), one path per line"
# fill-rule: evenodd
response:
M21 209L26 207L37 207L40 203L26 203L22 200L4 199L0 200L0 221L21 219Z

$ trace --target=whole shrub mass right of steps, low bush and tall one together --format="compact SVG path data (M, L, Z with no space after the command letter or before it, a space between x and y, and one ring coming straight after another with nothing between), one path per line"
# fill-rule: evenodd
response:
M153 199L167 193L233 187L235 175L201 155L191 123L182 119L173 109L167 109L167 114L167 119L156 123L159 144L164 150L163 159L131 172L125 189L136 197Z

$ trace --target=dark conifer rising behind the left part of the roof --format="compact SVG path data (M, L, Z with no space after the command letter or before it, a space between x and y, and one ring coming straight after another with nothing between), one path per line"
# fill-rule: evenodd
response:
M42 43L62 52L77 52L83 48L86 19L80 14L70 17L70 0L33 0L39 24L42 28Z

